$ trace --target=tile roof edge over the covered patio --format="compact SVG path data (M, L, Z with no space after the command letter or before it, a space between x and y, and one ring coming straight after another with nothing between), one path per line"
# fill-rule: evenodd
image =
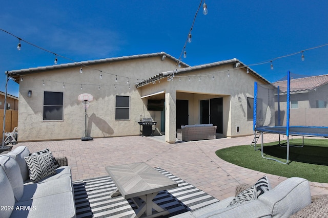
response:
M265 79L264 77L262 77L261 75L259 75L258 73L256 73L255 71L253 71L251 68L249 68L247 65L245 65L244 63L242 63L241 61L239 61L237 58L233 58L233 59L230 59L230 60L222 60L222 61L217 61L217 62L213 62L213 63L206 63L206 64L200 64L200 65L197 65L197 66L193 66L193 67L186 67L186 68L179 68L179 69L176 69L176 70L171 70L171 71L165 71L165 72L161 72L159 74L156 74L144 81L141 81L139 83L136 84L136 87L140 87L140 86L144 86L144 85L147 85L149 83L152 83L156 80L159 80L161 78L164 78L164 77L168 77L170 75L173 75L173 72L175 72L174 74L175 75L179 75L179 74L182 74L182 73L188 73L190 71L193 71L193 70L199 70L199 69L204 69L204 68L211 68L211 67L216 67L216 66L220 66L220 65L224 65L224 64L228 64L228 63L237 63L239 62L240 65L238 68L248 68L250 73L253 73L254 75L256 75L257 77L261 78L262 80L264 80L265 82L267 83L270 83L267 79Z

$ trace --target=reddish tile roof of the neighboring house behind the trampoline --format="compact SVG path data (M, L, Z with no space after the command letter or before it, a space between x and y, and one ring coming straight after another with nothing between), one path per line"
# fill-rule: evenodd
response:
M310 92L328 83L328 74L319 76L303 77L291 79L291 93ZM279 86L280 92L287 92L287 81L278 81L272 83L274 86Z

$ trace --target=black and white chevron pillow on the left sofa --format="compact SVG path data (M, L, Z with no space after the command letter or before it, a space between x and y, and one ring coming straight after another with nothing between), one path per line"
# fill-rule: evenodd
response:
M30 171L30 180L36 182L56 173L52 152L24 157Z

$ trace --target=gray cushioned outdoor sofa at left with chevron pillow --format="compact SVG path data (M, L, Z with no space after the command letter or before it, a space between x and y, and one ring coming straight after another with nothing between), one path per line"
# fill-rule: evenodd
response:
M48 149L30 154L19 146L0 155L0 196L2 218L76 217L71 169L56 168Z

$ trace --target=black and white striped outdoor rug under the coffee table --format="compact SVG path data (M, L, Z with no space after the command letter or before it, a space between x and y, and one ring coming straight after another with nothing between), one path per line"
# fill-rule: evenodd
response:
M219 200L189 183L156 167L156 170L178 183L178 187L161 191L154 202L170 211L169 217L195 210ZM111 198L116 186L109 176L73 182L77 217L131 217L137 209L132 200L121 195ZM163 216L162 216L163 217Z

